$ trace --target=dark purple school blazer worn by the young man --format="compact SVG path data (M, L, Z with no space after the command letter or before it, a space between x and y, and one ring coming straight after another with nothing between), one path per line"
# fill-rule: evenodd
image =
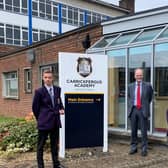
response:
M64 109L61 101L61 88L53 86L55 106L45 86L35 90L32 110L37 120L39 130L50 130L61 127L59 110Z

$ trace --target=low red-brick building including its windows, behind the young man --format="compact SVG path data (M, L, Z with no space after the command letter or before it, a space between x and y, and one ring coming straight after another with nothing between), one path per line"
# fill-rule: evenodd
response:
M34 89L42 85L42 71L52 69L57 84L58 52L85 52L83 41L88 35L92 45L102 36L101 25L78 28L2 55L0 115L25 117L31 112Z

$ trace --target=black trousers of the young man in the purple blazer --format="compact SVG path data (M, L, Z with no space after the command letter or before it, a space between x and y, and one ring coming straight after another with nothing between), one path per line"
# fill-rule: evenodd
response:
M57 168L58 161L58 143L59 143L59 128L53 130L39 130L38 142L37 142L37 163L38 168L44 168L43 150L46 140L50 137L51 156L53 161L53 167Z

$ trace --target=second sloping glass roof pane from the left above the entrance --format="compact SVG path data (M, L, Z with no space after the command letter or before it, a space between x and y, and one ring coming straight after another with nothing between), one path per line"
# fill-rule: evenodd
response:
M116 39L110 46L127 44L130 40L135 37L138 32L122 34L118 39Z

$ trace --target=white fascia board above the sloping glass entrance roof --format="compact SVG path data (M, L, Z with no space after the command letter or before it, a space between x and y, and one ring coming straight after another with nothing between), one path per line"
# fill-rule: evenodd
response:
M149 13L135 14L107 22L103 22L103 34L116 33L142 27L165 24L168 18L168 8Z

